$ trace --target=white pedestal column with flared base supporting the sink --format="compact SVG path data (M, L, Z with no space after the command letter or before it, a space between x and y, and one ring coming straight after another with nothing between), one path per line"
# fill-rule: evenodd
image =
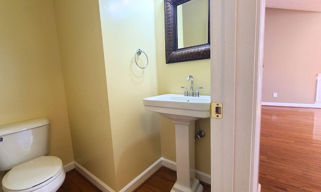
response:
M195 178L195 120L174 123L177 180L171 192L201 192L203 186Z

